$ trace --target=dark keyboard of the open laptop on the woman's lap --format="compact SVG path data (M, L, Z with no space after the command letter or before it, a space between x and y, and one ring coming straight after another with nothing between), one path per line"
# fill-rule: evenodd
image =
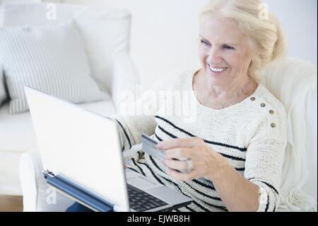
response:
M130 208L138 212L151 210L163 205L167 205L163 200L151 196L151 194L141 191L139 188L127 184Z

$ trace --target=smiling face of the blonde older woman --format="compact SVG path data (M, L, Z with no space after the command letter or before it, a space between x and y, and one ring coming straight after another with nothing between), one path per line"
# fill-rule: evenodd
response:
M225 86L247 77L252 60L247 36L237 24L205 16L200 24L199 58L209 84Z

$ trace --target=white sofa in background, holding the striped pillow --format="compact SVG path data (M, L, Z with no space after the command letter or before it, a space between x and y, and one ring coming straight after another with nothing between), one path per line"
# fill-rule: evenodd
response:
M55 4L57 6L56 20L47 20L47 4L3 4L0 6L0 26L20 26L20 25L54 25L71 20L73 16L86 10L99 13L104 9L93 9L86 6L75 6L66 4ZM88 43L95 48L100 48L105 59L90 60L102 62L103 68L92 68L93 72L102 69L105 77L100 78L98 84L102 91L112 96L108 101L86 103L81 106L100 115L112 115L116 113L117 97L124 90L134 91L139 84L139 77L134 64L129 57L129 38L131 15L123 9L107 9L105 15L110 23L107 28L120 26L120 29L103 30L103 33L110 33L107 37L98 37L96 32L95 43ZM95 14L94 14L95 15ZM96 13L96 15L101 15ZM105 19L105 18L104 18ZM95 28L91 28L94 31ZM87 45L87 43L86 43ZM90 46L90 47L92 47ZM90 57L90 56L88 56ZM91 62L90 61L90 62ZM97 62L98 64L98 62ZM0 108L0 194L1 195L22 195L19 179L19 161L21 154L37 150L37 142L30 113L20 113L10 115L8 113L8 103ZM30 167L30 169L33 169ZM33 178L30 170L25 171L23 179ZM32 181L32 180L31 180ZM30 182L31 182L30 181ZM31 182L32 183L32 182ZM25 193L28 190L25 190ZM28 195L25 195L28 197Z

